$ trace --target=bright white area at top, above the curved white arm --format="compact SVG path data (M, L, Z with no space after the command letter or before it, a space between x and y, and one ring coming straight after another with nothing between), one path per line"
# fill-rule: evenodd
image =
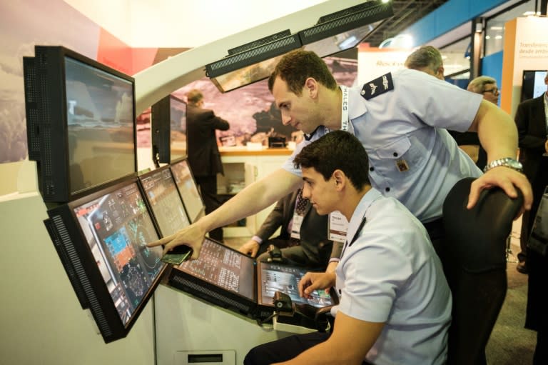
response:
M64 0L131 47L193 48L326 0ZM347 0L328 0L342 4ZM350 1L349 6L355 4ZM279 29L283 31L285 29ZM300 29L290 29L299 31Z

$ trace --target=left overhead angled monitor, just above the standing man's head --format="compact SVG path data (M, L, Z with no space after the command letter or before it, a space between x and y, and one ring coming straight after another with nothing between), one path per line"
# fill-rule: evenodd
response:
M205 65L205 74L220 92L268 78L280 58L302 44L289 30L228 50L228 56Z

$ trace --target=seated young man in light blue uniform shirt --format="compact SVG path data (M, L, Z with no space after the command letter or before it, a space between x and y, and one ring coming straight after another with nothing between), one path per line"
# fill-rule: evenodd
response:
M452 305L442 264L420 221L372 188L367 161L360 141L343 131L295 156L303 196L318 214L340 211L350 222L335 273L308 273L299 283L301 296L336 285L335 325L330 334L257 346L245 365L445 364Z

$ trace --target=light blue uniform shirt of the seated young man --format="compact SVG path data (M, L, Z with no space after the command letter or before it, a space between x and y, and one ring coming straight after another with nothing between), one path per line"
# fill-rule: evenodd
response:
M451 292L425 227L375 189L352 214L347 237L364 216L335 271L340 304L332 313L385 323L365 358L373 364L445 364Z

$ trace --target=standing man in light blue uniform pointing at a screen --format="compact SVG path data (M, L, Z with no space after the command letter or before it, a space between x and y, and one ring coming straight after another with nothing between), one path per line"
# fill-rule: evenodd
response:
M282 123L306 134L281 169L255 181L212 214L156 241L192 246L193 258L205 232L255 214L300 187L293 158L329 131L354 134L369 156L372 187L402 202L425 224L441 220L445 196L460 179L473 176L468 206L480 191L500 186L509 196L524 194L530 209L531 185L515 160L517 130L512 118L479 94L472 94L421 71L402 69L365 83L338 86L328 66L313 52L291 51L268 80ZM445 129L477 131L489 165L482 175ZM348 156L349 159L352 156ZM437 226L437 224L433 224Z

